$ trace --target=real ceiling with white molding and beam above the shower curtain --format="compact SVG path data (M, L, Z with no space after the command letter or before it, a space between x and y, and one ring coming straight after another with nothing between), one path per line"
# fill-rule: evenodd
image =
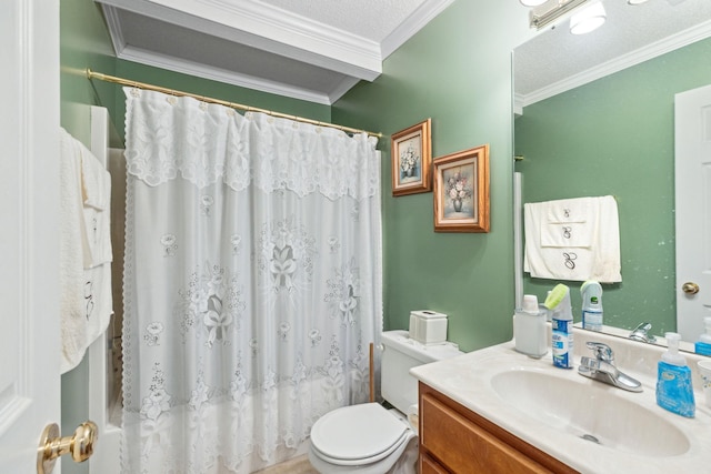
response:
M94 0L118 58L331 104L453 0Z

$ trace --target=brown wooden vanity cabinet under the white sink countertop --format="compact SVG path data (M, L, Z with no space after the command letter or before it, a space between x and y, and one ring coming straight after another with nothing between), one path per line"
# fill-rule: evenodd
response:
M577 473L420 382L420 474Z

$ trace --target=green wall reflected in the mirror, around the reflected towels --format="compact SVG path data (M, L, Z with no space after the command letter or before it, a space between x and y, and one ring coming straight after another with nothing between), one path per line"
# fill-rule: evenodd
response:
M523 109L515 120L523 202L612 194L622 283L603 286L605 324L675 329L674 94L711 82L703 40ZM580 307L580 282L571 286ZM550 281L524 281L539 301ZM579 311L574 311L580 320Z

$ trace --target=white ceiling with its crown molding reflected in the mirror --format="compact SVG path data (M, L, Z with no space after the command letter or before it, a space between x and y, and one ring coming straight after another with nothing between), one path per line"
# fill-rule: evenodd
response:
M608 0L604 7L605 23L589 34L571 34L565 20L515 49L520 104L711 36L711 0L650 0L640 6Z

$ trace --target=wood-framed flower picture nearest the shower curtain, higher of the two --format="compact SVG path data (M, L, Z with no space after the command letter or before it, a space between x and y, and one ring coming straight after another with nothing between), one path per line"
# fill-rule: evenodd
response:
M431 119L392 135L392 195L432 191Z

